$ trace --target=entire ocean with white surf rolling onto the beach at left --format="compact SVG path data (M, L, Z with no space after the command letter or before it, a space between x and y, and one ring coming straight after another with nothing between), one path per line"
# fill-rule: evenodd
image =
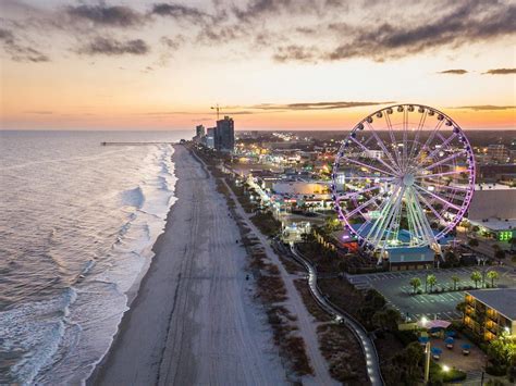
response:
M0 384L81 383L174 203L191 132L0 132Z

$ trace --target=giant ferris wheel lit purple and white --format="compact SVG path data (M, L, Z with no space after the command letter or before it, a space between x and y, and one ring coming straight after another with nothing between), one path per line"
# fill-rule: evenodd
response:
M339 220L364 249L440 251L439 240L471 201L475 158L450 116L398 104L358 122L342 141L332 179Z

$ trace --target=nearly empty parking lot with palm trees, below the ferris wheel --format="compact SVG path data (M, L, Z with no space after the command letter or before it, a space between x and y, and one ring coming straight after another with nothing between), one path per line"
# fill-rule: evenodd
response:
M428 270L428 271L405 271L405 272L382 272L365 275L348 275L347 278L359 289L374 288L381 292L388 302L398 310L402 315L411 321L422 316L428 319L454 320L462 314L455 310L458 302L464 299L464 291L450 291L440 294L413 295L414 289L409 282L413 277L421 279L420 290L425 291L425 277L429 274L435 275L438 283L433 287L453 288L452 276L460 278L457 287L475 286L470 276L474 271L487 272L495 270L499 279L495 281L497 287L515 287L516 271L506 266L468 266L456 269ZM489 279L486 279L490 283ZM481 284L479 283L479 288Z

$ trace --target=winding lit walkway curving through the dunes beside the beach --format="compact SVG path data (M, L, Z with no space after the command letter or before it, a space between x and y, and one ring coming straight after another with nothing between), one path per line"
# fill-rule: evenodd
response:
M319 286L317 285L316 269L296 250L293 244L291 244L291 252L293 257L308 271L308 286L310 288L311 295L317 300L319 306L330 315L342 321L357 337L366 357L367 375L369 376L371 384L373 386L383 385L384 382L380 370L380 361L378 358L377 348L374 347L372 339L367 334L367 331L352 315L339 309L335 304L331 303L322 296Z

